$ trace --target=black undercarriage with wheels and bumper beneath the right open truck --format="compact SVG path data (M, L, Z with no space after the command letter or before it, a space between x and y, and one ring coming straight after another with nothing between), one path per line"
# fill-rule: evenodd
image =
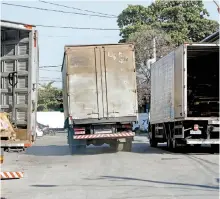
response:
M150 125L150 145L167 142L170 150L179 146L211 145L215 151L219 148L219 124L209 121L186 120Z

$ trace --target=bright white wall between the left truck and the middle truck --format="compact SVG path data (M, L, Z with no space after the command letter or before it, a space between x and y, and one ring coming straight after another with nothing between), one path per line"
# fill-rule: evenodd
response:
M63 128L64 113L61 112L37 112L37 122L49 125L50 128Z

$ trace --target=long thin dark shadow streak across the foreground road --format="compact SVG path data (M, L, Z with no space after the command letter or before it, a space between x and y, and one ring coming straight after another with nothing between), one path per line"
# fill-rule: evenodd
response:
M167 181L157 181L157 180L146 180L146 179L131 178L131 177L101 176L100 178L97 178L95 180L104 180L104 179L109 179L111 181L121 181L121 180L141 181L141 182L149 182L149 183L155 183L155 184L167 184L167 185L188 186L188 187L198 187L198 188L204 188L204 189L219 190L219 186L180 183L180 182L167 182Z

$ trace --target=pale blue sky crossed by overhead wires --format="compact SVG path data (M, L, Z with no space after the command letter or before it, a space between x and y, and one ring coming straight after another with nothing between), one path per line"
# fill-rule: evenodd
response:
M47 1L47 0L45 0ZM49 0L48 0L49 1ZM39 1L2 1L7 3L63 10L68 12L81 12L78 10L45 4ZM149 1L49 1L70 7L102 12L110 15L119 15L128 4L148 6ZM218 2L218 1L217 1ZM213 1L204 1L205 8L210 13L210 19L219 20L216 5ZM88 12L84 12L89 14ZM93 13L90 13L93 14ZM118 29L117 18L101 18L76 14L41 11L13 6L1 5L1 19L22 22L33 25L72 26L90 28ZM40 66L61 65L65 45L76 44L105 44L118 43L120 36L118 30L73 30L60 28L38 27ZM61 88L61 67L40 69L40 83L47 83L54 79L53 85Z

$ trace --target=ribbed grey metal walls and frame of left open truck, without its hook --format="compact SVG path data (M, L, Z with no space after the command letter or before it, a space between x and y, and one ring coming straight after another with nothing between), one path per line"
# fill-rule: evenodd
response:
M12 112L12 87L8 75L17 72L15 123L20 140L35 135L39 49L35 26L1 20L1 111ZM2 145L7 144L3 143Z

